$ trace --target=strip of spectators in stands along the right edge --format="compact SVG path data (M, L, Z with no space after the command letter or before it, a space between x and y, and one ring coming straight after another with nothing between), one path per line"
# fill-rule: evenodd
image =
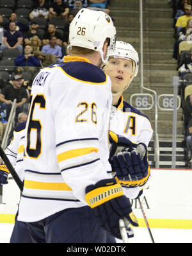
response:
M175 44L173 59L177 60L180 96L184 120L187 161L192 159L192 1L172 0Z

